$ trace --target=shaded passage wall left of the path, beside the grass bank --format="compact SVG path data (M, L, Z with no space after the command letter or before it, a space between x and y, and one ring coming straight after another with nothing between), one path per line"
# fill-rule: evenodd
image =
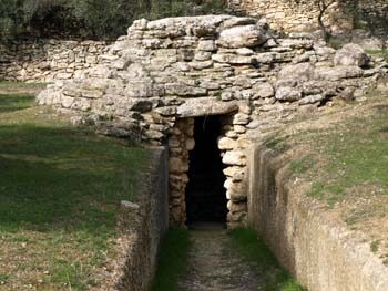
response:
M153 148L151 166L139 180L134 201L121 201L121 253L109 273L114 277L114 288L104 290L151 288L161 241L169 229L167 163L167 149Z

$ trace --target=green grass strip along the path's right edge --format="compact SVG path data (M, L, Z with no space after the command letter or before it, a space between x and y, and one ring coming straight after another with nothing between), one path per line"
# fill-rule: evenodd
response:
M228 231L234 247L247 263L258 268L265 279L265 291L304 291L293 277L279 267L275 256L253 229L237 228Z

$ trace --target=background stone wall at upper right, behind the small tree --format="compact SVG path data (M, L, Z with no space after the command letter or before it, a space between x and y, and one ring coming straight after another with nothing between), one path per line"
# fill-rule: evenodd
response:
M265 17L276 30L300 32L318 29L317 2L313 0L228 0L228 7L239 14ZM324 22L335 33L346 31L348 34L349 30L361 28L372 31L382 41L387 41L387 19L386 0L337 0L325 12ZM364 34L363 38L369 38L368 35ZM359 32L356 31L353 41L358 37Z

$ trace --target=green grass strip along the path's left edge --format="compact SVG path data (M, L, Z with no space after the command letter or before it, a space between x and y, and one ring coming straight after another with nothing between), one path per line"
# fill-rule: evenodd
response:
M162 243L153 291L182 291L177 281L185 270L190 245L187 230L178 228L169 230Z

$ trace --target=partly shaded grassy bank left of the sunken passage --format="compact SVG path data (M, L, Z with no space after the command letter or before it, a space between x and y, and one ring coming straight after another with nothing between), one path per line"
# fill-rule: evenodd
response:
M0 84L0 290L85 290L149 153L33 106L34 87Z

